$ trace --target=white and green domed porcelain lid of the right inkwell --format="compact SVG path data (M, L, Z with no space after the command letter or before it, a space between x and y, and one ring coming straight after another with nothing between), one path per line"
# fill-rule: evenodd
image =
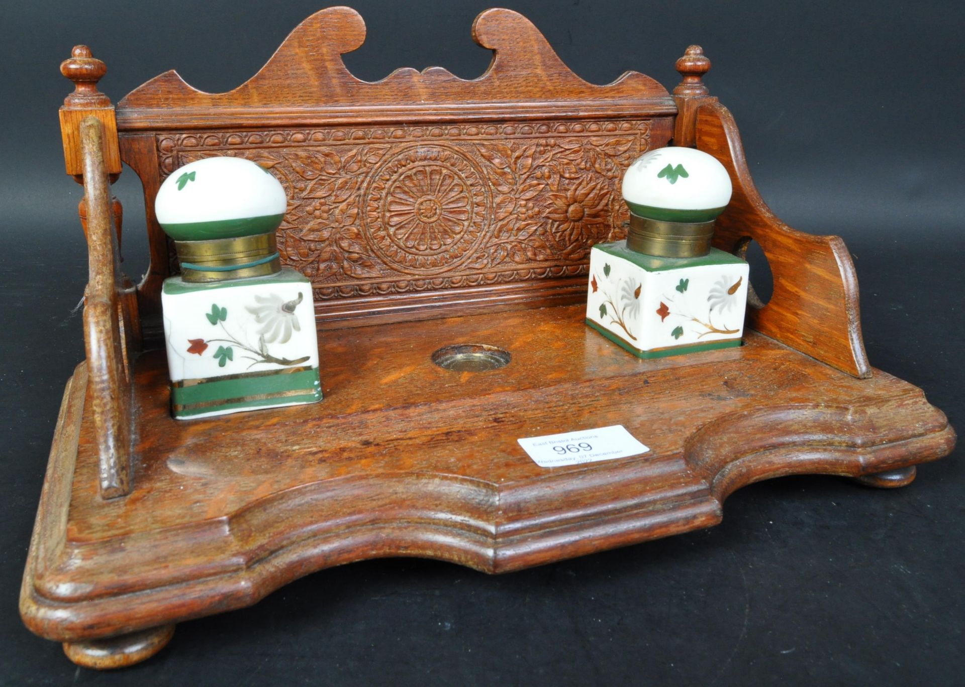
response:
M717 158L693 148L642 154L623 175L623 200L641 217L709 222L731 201L731 177Z

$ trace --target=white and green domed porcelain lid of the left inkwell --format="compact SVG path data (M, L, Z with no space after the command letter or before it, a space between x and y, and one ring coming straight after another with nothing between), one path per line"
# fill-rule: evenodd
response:
M268 170L239 157L207 157L175 170L154 200L161 228L176 241L273 233L288 205Z

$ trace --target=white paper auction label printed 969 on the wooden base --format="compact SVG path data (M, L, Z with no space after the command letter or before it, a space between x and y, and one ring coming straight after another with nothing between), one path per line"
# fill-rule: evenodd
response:
M531 436L516 441L541 468L595 463L649 451L622 425Z

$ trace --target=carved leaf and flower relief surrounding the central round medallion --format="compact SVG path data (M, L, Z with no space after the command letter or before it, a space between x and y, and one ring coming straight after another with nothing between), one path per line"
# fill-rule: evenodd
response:
M333 127L162 134L157 144L162 177L217 155L271 170L289 196L278 233L283 261L312 280L318 299L330 299L585 274L593 244L622 237L620 177L648 150L649 129L648 120ZM475 255L422 278L377 257L360 214L373 170L406 142L427 140L476 162L492 204Z

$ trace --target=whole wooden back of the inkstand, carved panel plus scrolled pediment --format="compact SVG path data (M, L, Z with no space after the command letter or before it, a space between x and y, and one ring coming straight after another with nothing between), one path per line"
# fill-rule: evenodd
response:
M122 156L148 206L145 312L177 270L153 217L157 188L213 155L252 159L285 186L278 245L312 280L319 326L584 297L590 247L622 236L622 172L667 145L673 98L636 72L586 83L509 10L473 24L494 51L474 80L430 68L360 81L341 55L364 37L354 11L322 10L230 93L169 71L119 103Z

